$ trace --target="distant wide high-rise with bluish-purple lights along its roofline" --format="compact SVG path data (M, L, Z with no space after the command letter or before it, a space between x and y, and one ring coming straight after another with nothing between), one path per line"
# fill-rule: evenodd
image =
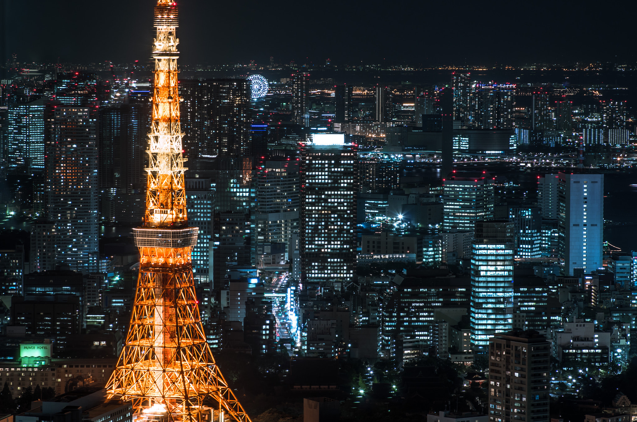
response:
M476 129L513 129L515 85L473 85L471 108Z

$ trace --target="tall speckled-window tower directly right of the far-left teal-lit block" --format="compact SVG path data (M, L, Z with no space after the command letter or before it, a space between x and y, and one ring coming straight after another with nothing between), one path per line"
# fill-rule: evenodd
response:
M47 144L47 215L55 225L57 262L97 271L97 113L57 106Z

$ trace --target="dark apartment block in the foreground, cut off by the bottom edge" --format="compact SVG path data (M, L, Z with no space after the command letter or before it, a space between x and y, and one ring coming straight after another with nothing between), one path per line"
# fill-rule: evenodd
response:
M489 421L550 421L551 344L536 331L489 341Z

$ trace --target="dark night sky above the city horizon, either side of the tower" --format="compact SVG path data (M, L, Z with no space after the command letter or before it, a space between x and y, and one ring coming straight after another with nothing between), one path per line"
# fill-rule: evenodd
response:
M0 0L18 61L147 60L152 0ZM182 63L634 61L632 4L575 1L182 0Z

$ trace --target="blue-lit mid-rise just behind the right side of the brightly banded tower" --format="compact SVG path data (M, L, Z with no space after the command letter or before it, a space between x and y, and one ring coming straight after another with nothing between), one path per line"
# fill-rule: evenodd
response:
M516 258L542 256L542 218L540 207L510 207Z

